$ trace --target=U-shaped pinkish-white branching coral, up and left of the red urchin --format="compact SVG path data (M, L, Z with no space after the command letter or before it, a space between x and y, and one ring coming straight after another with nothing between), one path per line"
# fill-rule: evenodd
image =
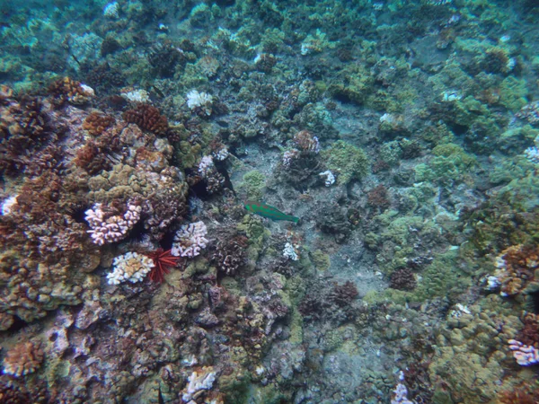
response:
M88 209L85 212L86 222L92 228L92 230L88 230L88 233L97 245L103 245L106 242L119 242L137 224L141 212L142 207L128 204L128 209L123 216L112 215L105 218L102 204L95 204L93 209Z

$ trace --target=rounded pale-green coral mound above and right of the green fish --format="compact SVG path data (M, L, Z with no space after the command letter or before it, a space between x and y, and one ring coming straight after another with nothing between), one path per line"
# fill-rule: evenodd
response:
M367 155L363 150L342 140L335 142L322 152L327 167L339 173L338 183L348 184L350 180L360 180L368 172Z

